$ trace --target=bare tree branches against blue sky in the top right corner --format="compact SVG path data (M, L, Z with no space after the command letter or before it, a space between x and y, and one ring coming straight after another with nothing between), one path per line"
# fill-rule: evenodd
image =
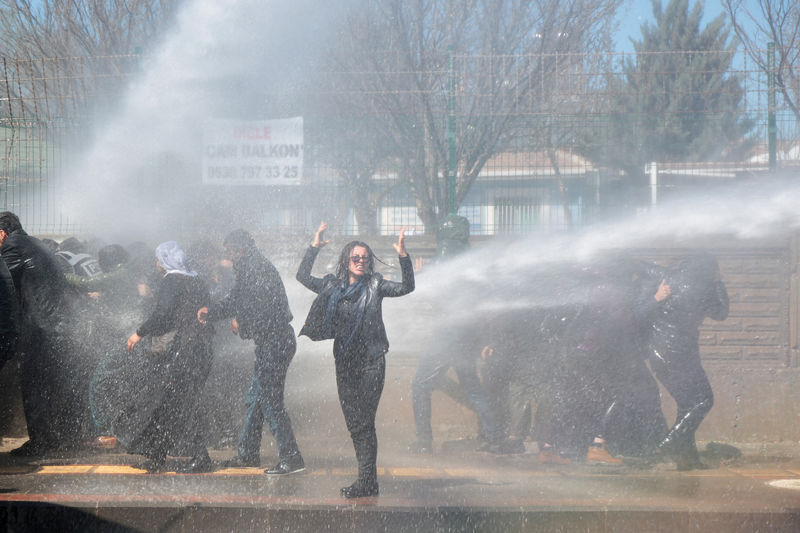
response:
M775 43L775 86L800 120L800 3L797 0L722 0L736 36L764 72L770 71L767 44Z

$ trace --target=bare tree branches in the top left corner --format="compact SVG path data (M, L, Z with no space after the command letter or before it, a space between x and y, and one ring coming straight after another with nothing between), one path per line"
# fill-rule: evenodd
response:
M113 96L180 0L5 0L0 56L6 113L75 116ZM16 106L12 106L16 103Z

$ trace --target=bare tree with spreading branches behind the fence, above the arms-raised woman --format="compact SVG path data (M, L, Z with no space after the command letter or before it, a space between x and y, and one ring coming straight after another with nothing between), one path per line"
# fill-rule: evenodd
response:
M551 79L607 50L617 0L365 0L336 50L350 94L380 124L426 231L456 206L489 158L556 98ZM344 93L342 94L342 97ZM363 98L363 96L359 96ZM551 109L552 110L552 109ZM453 125L455 126L453 128ZM448 135L456 187L449 197ZM531 147L528 147L530 149Z

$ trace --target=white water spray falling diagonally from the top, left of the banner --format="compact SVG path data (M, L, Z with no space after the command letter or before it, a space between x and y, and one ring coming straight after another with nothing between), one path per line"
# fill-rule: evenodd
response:
M204 121L275 118L267 95L305 81L333 13L307 1L187 2L70 170L70 219L115 238L202 224L191 218L206 207L197 191Z

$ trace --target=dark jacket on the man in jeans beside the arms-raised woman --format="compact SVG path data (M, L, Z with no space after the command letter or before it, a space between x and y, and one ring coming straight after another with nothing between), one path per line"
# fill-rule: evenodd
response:
M239 336L255 339L282 333L292 321L281 276L261 252L251 248L234 261L236 282L230 294L209 308L211 320L236 317Z

